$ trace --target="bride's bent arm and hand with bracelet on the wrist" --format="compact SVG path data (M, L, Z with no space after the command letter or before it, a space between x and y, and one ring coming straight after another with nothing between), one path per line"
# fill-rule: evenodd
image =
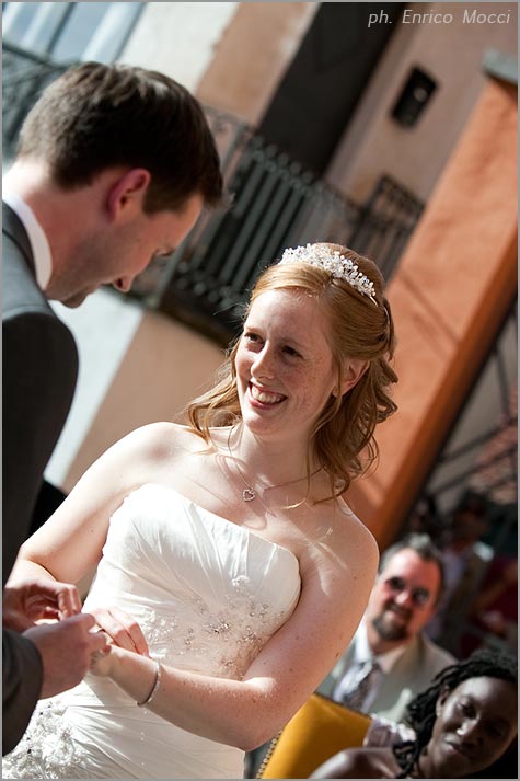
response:
M378 563L373 538L353 529L340 562L331 553L309 562L290 619L266 643L243 680L163 667L145 705L176 726L250 750L275 735L320 685L348 645L368 601ZM157 663L114 648L94 673L111 677L142 702L154 687Z

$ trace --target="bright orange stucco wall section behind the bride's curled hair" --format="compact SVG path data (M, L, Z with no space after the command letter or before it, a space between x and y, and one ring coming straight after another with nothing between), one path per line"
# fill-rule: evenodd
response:
M490 80L389 286L398 411L378 433L377 472L348 494L382 547L411 508L516 297L517 140L517 90Z

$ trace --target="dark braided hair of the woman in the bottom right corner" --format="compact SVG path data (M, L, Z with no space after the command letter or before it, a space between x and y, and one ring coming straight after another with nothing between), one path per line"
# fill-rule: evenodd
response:
M459 684L469 678L486 676L501 678L517 685L518 663L511 655L501 651L479 648L467 659L446 667L434 678L431 686L417 694L407 705L405 721L415 731L415 740L404 740L393 746L397 763L402 768L398 779L409 776L420 756L428 745L437 719L436 704L443 690L453 691Z

